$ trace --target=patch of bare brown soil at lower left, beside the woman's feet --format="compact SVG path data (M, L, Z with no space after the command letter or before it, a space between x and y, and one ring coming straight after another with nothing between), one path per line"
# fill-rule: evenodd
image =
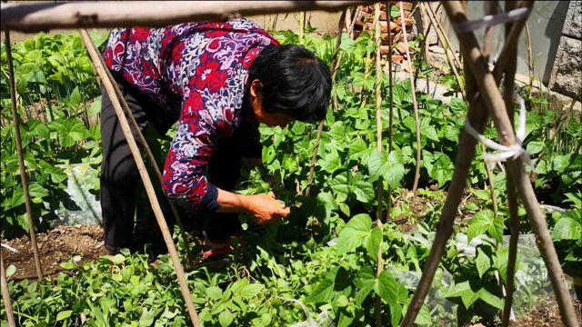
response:
M36 238L45 275L61 272L60 263L71 260L90 262L107 254L103 246L103 229L97 224L58 226L47 233L38 233ZM9 280L35 279L35 260L28 237L2 240L2 243L17 251L2 249L5 266L14 264L16 267L15 274Z

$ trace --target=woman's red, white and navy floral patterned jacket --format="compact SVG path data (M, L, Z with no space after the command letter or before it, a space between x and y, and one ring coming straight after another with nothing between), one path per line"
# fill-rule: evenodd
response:
M242 18L114 29L109 36L104 57L116 78L156 107L179 111L163 187L186 209L219 208L216 186L206 180L206 165L218 139L244 128L248 68L267 45L278 42ZM257 124L254 129L256 137L248 142L258 143Z

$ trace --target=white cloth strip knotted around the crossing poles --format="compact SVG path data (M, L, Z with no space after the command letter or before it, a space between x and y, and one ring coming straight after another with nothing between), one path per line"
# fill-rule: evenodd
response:
M471 123L468 119L465 121L465 130L468 134L475 137L477 141L479 141L481 144L484 144L486 147L497 151L494 154L488 154L487 152L484 152L483 154L483 159L489 168L493 168L497 163L505 162L509 158L517 159L520 156L533 168L533 163L529 159L529 154L522 146L524 138L526 138L526 102L517 93L514 94L514 97L517 98L517 103L519 104L516 144L497 144L496 142L489 140L487 137L479 134L477 130L471 126Z

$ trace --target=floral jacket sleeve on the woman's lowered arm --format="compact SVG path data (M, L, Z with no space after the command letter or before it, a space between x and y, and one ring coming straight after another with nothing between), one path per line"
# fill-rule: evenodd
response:
M205 174L220 134L219 125L224 123L213 119L199 93L187 93L163 176L166 196L187 210L220 208L216 186L206 180Z

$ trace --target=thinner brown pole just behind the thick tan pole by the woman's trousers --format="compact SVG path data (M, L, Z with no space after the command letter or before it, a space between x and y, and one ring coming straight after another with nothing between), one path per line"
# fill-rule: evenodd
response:
M93 41L91 40L91 37L89 35L82 34L81 38L82 38L85 46L93 44ZM99 61L101 62L101 64L104 67L106 67L103 55L99 54L99 52L97 52L97 54L99 55ZM131 124L132 128L134 129L135 135L137 135L137 140L139 141L140 144L142 144L142 146L146 150L147 158L151 162L151 166L154 169L154 172L156 173L158 181L160 183L163 183L164 181L163 181L163 177L162 177L162 172L160 171L160 168L157 165L156 157L152 153L152 149L150 149L149 144L147 144L146 137L144 136L144 134L142 133L142 131L139 128L139 125L135 121L134 114L132 114L131 109L129 108L129 105L127 105L127 102L125 101L124 94L121 93L121 90L119 89L119 86L115 82L115 78L113 77L111 72L109 72L109 69L105 69L105 74L107 75L107 78L109 79L109 81L111 82L111 84L113 85L113 87L115 89L115 94L117 96L117 100L121 104L121 107L124 109L125 117L127 117L129 119L129 124ZM168 204L170 205L170 209L172 210L172 214L174 215L174 218L176 219L176 223L177 223L178 227L180 228L180 235L182 236L182 239L184 240L184 245L186 247L186 256L188 259L188 263L193 263L194 262L194 254L192 253L192 247L190 246L190 243L188 242L188 238L186 236L186 230L184 229L184 224L182 223L180 213L178 212L178 210L176 208L176 203L172 202L169 199L166 199L166 200L167 200Z

